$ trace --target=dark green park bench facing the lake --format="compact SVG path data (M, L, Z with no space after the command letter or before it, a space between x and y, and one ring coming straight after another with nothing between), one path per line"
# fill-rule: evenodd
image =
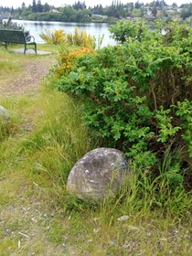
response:
M22 30L13 29L1 29L0 28L0 42L5 43L7 49L7 43L24 44L24 54L26 54L27 46L34 46L34 50L37 53L37 44L33 36L26 37L25 32Z

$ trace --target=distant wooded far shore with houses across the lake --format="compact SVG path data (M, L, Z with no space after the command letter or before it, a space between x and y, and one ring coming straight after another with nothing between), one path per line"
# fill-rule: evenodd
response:
M122 4L121 1L113 0L111 5L93 5L87 6L85 1L75 2L73 5L62 5L56 8L54 5L41 4L41 0L33 0L32 5L22 3L21 7L16 9L12 7L0 6L2 13L9 13L14 18L23 18L29 20L46 21L69 21L69 22L110 22L115 19L126 17L145 17L154 16L155 18L167 19L181 18L183 20L192 16L192 4L182 4L177 6L172 4L172 12L168 10L170 6L165 0L157 0L144 5L137 1L136 3ZM180 10L178 11L178 7Z

